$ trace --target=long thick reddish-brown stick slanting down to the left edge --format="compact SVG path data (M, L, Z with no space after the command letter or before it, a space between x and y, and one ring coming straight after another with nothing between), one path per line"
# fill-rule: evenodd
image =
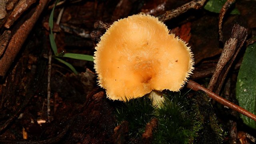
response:
M10 68L12 62L16 58L16 55L20 51L20 48L22 47L22 44L25 42L28 34L32 30L34 24L38 20L38 17L44 10L44 7L48 3L49 0L40 0L39 4L36 6L36 8L32 9L26 16L24 16L24 19L30 16L23 24L18 26L18 30L11 36L10 42L6 48L6 51L4 52L2 58L0 59L0 77L4 77L6 75L6 72Z

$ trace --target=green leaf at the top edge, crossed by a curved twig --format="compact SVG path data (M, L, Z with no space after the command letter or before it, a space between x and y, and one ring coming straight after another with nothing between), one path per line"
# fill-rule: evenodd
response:
M220 13L220 10L222 6L225 4L227 0L209 0L206 2L204 9L210 11L210 12L215 12L215 13ZM234 8L230 14L240 14L239 10L237 8Z

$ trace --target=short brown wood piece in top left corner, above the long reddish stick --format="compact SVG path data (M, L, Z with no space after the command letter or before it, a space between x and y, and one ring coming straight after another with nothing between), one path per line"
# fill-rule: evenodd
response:
M35 2L36 0L20 0L6 20L4 27L10 28L12 24L18 20L18 18L20 18L20 16Z

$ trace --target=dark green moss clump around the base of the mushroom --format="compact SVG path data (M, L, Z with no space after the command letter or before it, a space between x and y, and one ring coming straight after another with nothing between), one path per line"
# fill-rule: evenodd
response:
M198 92L194 98L187 94L167 91L165 102L158 108L147 98L132 99L116 108L118 123L129 122L130 140L140 139L146 124L158 119L152 144L218 144L223 131L217 123L209 98ZM134 142L130 142L134 143Z

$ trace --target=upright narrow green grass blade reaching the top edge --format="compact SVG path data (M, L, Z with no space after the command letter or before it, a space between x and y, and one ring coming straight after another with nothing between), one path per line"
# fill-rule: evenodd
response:
M54 7L52 8L52 12L50 14L50 18L49 18L49 27L50 27L50 34L49 34L49 37L50 37L50 44L51 44L51 47L52 47L52 50L54 52L54 54L56 55L58 53L57 51L57 45L55 43L55 40L54 40L54 34L52 32L52 28L53 28L53 14L54 14L54 9L55 9L55 6L56 4L59 2L59 0L56 1Z

